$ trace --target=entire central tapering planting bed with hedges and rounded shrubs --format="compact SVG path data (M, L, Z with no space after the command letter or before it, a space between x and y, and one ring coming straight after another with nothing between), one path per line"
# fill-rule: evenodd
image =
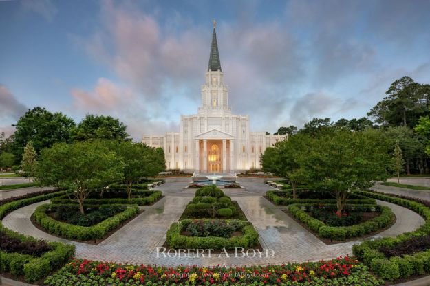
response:
M258 248L258 232L246 221L235 201L216 186L205 186L184 210L180 221L173 223L166 234L166 248L233 250Z

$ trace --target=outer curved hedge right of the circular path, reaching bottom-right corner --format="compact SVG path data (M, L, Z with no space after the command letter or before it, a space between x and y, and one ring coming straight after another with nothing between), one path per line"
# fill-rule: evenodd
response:
M378 276L388 280L397 278L408 278L411 275L422 275L430 273L430 250L417 252L413 255L391 256L387 258L378 249L381 247L394 248L396 243L406 241L414 236L422 236L430 234L430 208L422 203L391 197L376 192L356 191L360 195L366 195L379 199L381 201L389 201L396 203L399 206L409 208L417 212L425 219L425 224L414 232L407 232L398 235L396 238L376 239L374 241L364 241L352 247L354 255L368 265Z

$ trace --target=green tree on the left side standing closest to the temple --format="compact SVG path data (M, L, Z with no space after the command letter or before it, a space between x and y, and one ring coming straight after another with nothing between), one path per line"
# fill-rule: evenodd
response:
M126 186L127 197L131 197L131 188L141 177L157 175L165 168L164 153L160 160L160 151L142 143L116 141L109 143L111 150L122 159L122 181Z

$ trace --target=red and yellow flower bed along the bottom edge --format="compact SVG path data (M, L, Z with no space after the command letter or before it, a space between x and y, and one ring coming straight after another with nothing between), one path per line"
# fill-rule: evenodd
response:
M378 286L383 281L369 274L356 259L289 263L254 267L160 267L118 265L74 259L45 285L356 285Z

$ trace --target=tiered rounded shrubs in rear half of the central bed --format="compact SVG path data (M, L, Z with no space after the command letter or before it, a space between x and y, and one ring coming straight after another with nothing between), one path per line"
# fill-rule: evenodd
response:
M195 197L185 208L180 219L243 219L236 202L214 185L196 190Z

